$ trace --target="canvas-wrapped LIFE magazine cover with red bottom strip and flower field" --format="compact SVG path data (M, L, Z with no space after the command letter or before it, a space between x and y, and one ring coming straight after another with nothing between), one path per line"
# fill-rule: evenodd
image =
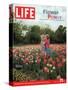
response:
M66 83L66 8L9 5L9 84Z

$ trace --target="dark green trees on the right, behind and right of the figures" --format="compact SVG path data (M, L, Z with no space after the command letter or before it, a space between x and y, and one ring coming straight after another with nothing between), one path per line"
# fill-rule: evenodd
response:
M66 27L59 25L54 32L51 28L47 27L41 31L42 34L49 34L51 43L66 43Z

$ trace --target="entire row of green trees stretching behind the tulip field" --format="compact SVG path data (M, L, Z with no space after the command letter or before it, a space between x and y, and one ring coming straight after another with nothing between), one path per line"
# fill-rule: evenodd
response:
M31 27L18 22L10 23L9 26L10 31L13 31L14 44L39 44L42 34L49 34L51 43L66 43L66 27L63 25L59 25L56 31L51 30L49 27L40 28L38 25ZM23 30L28 30L25 36L22 36Z

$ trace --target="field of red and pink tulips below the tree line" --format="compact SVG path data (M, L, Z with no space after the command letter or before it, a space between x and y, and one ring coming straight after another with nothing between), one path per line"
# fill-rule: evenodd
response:
M13 56L13 80L48 80L66 78L66 46L50 45L57 53L53 57L41 53L39 46L14 47L10 49L10 58ZM12 55L13 53L13 55Z

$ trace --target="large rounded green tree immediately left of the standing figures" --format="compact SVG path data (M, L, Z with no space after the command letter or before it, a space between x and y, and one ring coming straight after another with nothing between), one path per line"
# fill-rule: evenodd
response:
M39 26L33 26L31 28L31 31L26 33L26 36L23 40L23 43L25 44L38 44L41 41L41 37L39 34L40 27Z

